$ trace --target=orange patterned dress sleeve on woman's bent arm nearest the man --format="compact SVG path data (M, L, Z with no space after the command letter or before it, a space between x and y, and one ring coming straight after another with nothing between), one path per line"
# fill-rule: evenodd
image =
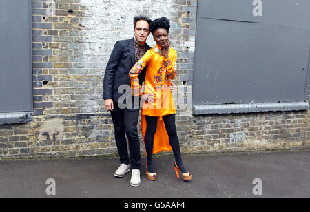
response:
M151 50L147 50L145 55L134 65L134 67L132 67L129 72L133 96L140 96L141 94L143 94L138 76L151 58L152 52Z

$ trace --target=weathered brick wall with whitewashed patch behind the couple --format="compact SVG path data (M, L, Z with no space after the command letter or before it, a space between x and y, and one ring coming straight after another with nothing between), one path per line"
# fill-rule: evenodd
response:
M172 21L183 153L309 147L309 112L192 116L196 6L190 0L33 0L34 118L0 125L0 158L117 153L103 75L114 43L132 38L136 14ZM147 43L154 45L152 35Z

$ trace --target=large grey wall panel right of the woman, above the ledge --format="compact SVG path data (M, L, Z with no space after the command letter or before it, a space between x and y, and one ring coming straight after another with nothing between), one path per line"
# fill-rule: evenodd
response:
M310 1L252 2L198 1L193 105L304 102Z

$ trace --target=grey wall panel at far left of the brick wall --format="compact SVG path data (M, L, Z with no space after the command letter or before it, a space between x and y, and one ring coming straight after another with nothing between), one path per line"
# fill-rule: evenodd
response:
M32 112L31 0L1 0L0 112Z

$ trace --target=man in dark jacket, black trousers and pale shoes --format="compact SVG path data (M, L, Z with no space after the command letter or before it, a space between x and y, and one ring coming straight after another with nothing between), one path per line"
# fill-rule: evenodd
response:
M130 171L129 164L131 162L132 178L130 180L130 185L133 187L138 187L141 182L140 141L136 127L138 123L139 107L136 108L126 103L126 107L123 109L120 103L118 103L118 100L121 96L126 94L124 92L119 93L118 89L121 85L128 85L130 87L128 73L145 52L151 48L146 43L147 37L150 34L149 25L151 23L152 21L147 17L134 17L134 38L116 42L110 60L107 63L103 82L105 109L111 112L116 146L121 161L121 165L118 165L118 169L114 173L114 176L120 178L125 176L125 173ZM139 78L141 84L144 78L145 70L143 70L143 75ZM129 94L131 95L131 92L129 92ZM130 96L130 98L132 98L132 103L136 102L134 97ZM128 98L126 98L126 100L128 100ZM127 152L125 133L128 138L130 160Z

